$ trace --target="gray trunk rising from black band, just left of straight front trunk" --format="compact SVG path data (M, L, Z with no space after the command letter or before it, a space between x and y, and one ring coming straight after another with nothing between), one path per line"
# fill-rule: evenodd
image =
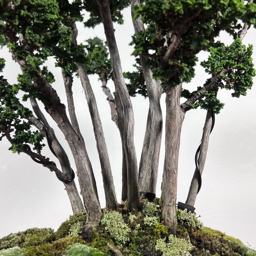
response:
M140 6L140 0L131 1L132 22L135 34L145 31L141 18L134 19L134 6ZM150 66L146 65L148 58L140 54L140 63L146 82L149 98L148 119L144 136L142 154L139 167L139 189L156 193L156 182L158 175L159 154L162 139L162 110L160 106L161 92L158 81L152 77Z

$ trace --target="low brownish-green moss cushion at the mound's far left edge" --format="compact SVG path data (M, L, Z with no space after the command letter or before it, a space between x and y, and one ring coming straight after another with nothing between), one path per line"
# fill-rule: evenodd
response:
M52 228L29 228L25 231L10 234L0 239L0 249L19 246L39 246L55 240Z

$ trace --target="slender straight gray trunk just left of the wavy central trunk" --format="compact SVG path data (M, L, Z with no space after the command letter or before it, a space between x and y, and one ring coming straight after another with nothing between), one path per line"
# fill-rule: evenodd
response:
M77 47L76 36L77 36L77 28L76 24L73 24L73 36L72 42ZM102 124L100 121L100 115L98 112L98 107L96 103L96 99L94 96L94 92L92 90L92 86L90 84L90 80L84 68L84 65L81 63L76 63L78 67L78 75L80 77L82 86L84 88L84 94L88 103L88 108L90 112L90 116L92 119L92 125L94 130L94 135L96 138L96 146L98 150L98 155L100 158L100 166L101 166L101 173L103 179L103 186L105 192L105 199L106 199L106 206L110 207L112 210L116 209L116 192L114 187L114 180L112 176L110 161L108 157L108 149L105 142Z

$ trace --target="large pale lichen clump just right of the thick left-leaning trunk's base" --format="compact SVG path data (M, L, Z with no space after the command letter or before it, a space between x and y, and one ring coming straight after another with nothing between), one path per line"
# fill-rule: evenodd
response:
M122 214L116 211L104 213L101 224L105 226L105 230L117 241L125 244L130 240L130 228L122 218Z

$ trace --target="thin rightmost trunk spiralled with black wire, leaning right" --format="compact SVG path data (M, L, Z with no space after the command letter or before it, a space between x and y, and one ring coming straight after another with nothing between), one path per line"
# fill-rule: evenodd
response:
M206 154L207 154L207 150L208 150L211 127L212 127L212 114L211 114L211 111L207 111L206 119L205 119L205 123L204 123L204 132L202 135L202 142L201 142L201 147L200 147L200 154L199 154L199 158L198 158L198 162L199 162L198 166L199 166L201 175L204 170L204 164L205 164ZM195 170L194 176L193 176L191 184L190 184L186 204L194 206L195 201L196 201L197 190L198 190L198 179L197 179L197 173Z

